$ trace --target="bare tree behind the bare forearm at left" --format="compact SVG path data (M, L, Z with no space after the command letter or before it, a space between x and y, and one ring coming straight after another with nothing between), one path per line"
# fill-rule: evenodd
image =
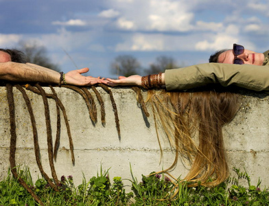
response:
M21 41L19 49L25 54L26 62L60 71L60 67L52 63L47 56L47 49L44 46L37 45L34 41Z

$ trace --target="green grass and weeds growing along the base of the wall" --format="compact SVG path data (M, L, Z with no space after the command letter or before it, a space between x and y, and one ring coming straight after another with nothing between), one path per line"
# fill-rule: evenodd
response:
M102 168L100 174L89 181L84 177L78 187L73 185L73 176L62 176L58 185L60 192L52 190L45 179L33 183L27 168L18 171L44 205L269 205L269 192L260 188L261 181L252 185L248 174L237 169L234 169L237 177L211 188L187 187L187 183L180 180L175 188L163 174L142 175L141 181L132 176L129 193L121 177L115 176L110 181L108 171ZM239 184L244 181L247 186ZM173 194L176 195L171 198ZM38 204L8 172L7 178L0 182L0 205Z

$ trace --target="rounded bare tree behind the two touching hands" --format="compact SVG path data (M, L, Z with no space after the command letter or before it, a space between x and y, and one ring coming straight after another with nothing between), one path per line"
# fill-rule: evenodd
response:
M110 65L111 73L117 76L131 76L139 73L139 61L130 55L117 56Z

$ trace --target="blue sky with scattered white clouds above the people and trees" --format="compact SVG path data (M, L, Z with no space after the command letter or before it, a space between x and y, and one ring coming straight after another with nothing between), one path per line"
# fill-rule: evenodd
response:
M178 65L207 62L233 43L264 52L268 20L268 0L0 0L0 47L34 41L62 71L111 77L122 54L146 69L162 55Z

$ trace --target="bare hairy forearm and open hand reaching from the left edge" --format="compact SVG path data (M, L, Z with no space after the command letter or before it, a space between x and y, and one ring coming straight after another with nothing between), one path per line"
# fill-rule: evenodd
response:
M87 71L89 71L88 68L69 71L65 75L67 84L89 86L92 84L105 82L100 78L81 75ZM21 64L16 62L3 62L0 63L0 79L14 82L30 81L58 84L60 82L60 73L31 63Z

